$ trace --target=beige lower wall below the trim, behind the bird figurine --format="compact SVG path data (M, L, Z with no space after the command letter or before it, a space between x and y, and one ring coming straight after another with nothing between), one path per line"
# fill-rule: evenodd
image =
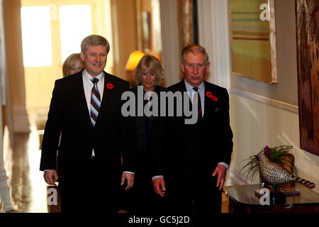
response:
M291 153L295 156L299 176L314 182L317 187L313 190L319 192L319 157L300 148L298 114L232 94L230 121L234 149L228 184L239 184L245 180L247 172L238 176L246 163L243 160L256 155L266 145L293 145ZM259 182L257 175L253 182Z

